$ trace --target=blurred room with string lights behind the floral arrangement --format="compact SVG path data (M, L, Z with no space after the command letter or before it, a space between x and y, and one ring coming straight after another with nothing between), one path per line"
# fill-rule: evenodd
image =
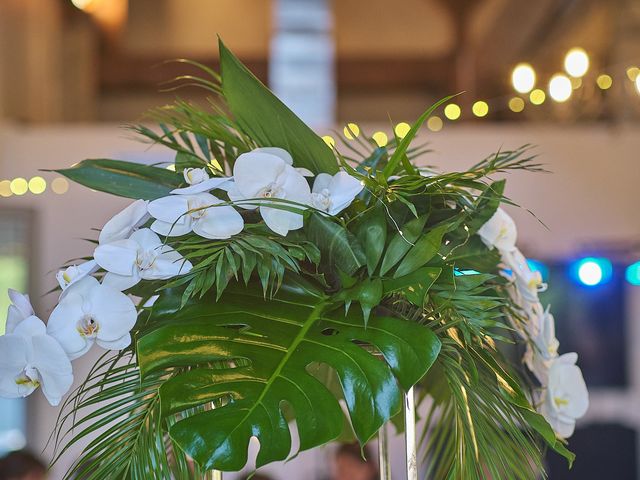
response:
M574 469L550 455L550 478L640 478L634 0L0 0L0 325L8 287L29 291L47 318L57 267L90 254L83 239L126 203L48 170L84 158L171 161L120 126L176 96L204 102L197 89L163 91L193 73L164 61L216 68L217 35L327 142L351 124L350 136L383 144L463 92L428 120L425 163L461 169L535 145L553 173L510 175L507 194L523 208L509 211L550 284L543 302L562 351L578 352L591 391L571 438ZM76 381L90 364L76 362ZM56 415L39 392L0 400L0 453L28 446L49 460ZM392 447L400 479L401 440ZM332 478L336 448L265 473Z

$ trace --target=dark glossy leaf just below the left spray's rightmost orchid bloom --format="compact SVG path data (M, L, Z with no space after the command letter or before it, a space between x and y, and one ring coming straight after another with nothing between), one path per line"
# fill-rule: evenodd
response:
M320 249L322 262L352 275L367 258L360 242L342 225L312 213L305 225L308 239Z

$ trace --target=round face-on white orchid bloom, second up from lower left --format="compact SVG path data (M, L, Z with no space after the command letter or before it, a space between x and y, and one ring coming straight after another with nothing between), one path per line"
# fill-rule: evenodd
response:
M124 293L85 277L67 288L51 312L47 333L73 360L94 343L107 350L129 346L136 317L136 307Z

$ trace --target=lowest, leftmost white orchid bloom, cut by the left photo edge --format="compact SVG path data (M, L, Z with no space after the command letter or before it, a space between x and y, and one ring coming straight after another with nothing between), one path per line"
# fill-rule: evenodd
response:
M30 315L0 337L0 397L20 398L42 387L53 406L73 383L71 362L60 344L47 335L42 320Z

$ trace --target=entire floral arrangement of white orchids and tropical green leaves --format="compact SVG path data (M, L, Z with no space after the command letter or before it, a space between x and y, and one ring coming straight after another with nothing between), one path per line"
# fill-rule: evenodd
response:
M404 137L351 132L341 153L222 43L220 58L221 75L188 62L203 76L178 79L211 92L208 110L178 100L150 112L158 130L132 127L175 151L172 169L59 171L134 201L93 258L58 273L47 324L9 292L0 395L66 396L58 453L90 439L69 477L236 471L252 437L260 467L295 454L292 421L300 450L365 444L413 386L433 478L537 478L547 447L571 462L585 383L576 354L558 355L545 285L491 180L540 171L528 149L417 167L412 142L445 99ZM104 353L69 393L71 361L94 344Z

